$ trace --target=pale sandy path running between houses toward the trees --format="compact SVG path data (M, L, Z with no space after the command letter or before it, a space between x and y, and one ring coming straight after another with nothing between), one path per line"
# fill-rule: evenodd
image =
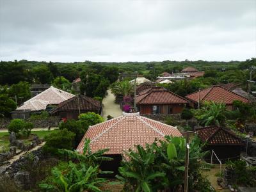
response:
M107 119L108 115L113 117L121 116L122 110L120 106L115 103L115 95L108 90L108 95L102 100L103 103L103 118Z

